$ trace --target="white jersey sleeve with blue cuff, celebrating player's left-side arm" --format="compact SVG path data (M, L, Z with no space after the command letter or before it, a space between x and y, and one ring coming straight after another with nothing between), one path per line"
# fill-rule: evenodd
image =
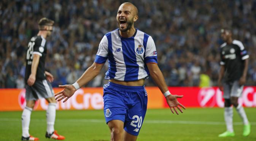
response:
M108 39L107 36L104 36L99 44L99 49L96 54L95 63L103 64L108 59Z

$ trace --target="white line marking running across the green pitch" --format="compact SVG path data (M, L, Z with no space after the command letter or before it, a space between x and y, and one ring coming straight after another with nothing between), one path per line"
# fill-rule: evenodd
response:
M31 119L31 121L42 122L46 119ZM0 118L0 121L21 121L19 118ZM102 119L56 119L56 122L95 122L105 123ZM225 122L218 121L167 121L167 120L146 120L144 123L149 124L201 124L201 125L225 125ZM243 125L243 122L234 122L234 125ZM250 122L251 125L256 125L256 122Z

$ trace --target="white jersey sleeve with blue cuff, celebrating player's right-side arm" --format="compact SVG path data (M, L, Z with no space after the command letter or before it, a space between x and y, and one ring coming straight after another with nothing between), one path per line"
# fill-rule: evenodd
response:
M157 52L156 45L151 36L148 37L145 50L145 62L146 63L156 63L157 64Z

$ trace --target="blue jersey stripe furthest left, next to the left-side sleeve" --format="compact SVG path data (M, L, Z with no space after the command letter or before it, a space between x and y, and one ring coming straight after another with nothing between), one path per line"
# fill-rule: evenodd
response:
M108 39L108 61L109 61L109 66L108 66L108 72L106 73L106 79L114 78L115 73L116 73L116 61L114 60L113 56L113 50L112 50L112 40L111 40L111 33L106 34L107 39ZM110 78L108 78L108 76Z

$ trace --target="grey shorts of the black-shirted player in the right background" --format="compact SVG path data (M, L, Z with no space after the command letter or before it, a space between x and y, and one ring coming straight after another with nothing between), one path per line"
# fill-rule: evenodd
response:
M239 81L224 82L223 83L224 99L230 99L230 97L241 97L243 92L243 85L239 85Z

